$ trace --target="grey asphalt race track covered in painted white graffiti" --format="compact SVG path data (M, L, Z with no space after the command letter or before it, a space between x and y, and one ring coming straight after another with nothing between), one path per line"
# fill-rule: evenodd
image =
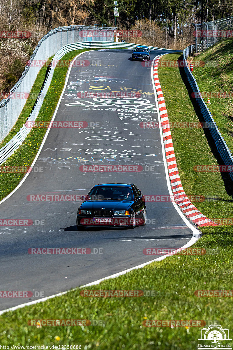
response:
M165 52L152 51L151 59ZM36 168L1 203L2 219L33 221L30 226L1 227L1 290L28 290L34 296L1 297L0 310L140 265L158 257L144 255L144 248L178 248L192 237L173 203L155 202L152 197L169 196L160 132L139 124L143 120L158 121L158 112L151 68L132 61L131 54L131 50L94 50L77 58L89 64L72 67L54 120L86 121L88 127L51 128ZM120 91L129 95L119 99L112 95L77 98L81 91ZM140 92L140 97L131 96L133 92ZM143 171L81 171L80 166L86 164L140 165ZM146 202L147 225L134 230L77 231L76 214L81 202L72 196L86 195L98 183L118 182L134 183L144 195L151 196L147 198L152 201ZM68 195L68 200L52 201L48 197L49 201L31 201L31 195ZM32 247L89 247L92 254L29 254Z

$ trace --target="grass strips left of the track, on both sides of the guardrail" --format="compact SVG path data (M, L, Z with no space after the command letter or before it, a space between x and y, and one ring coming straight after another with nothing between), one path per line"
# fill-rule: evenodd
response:
M62 57L62 59L73 59L79 53L87 50L88 49L82 49L68 52ZM51 120L60 98L60 94L64 87L67 70L67 66L56 67L54 69L53 78L49 90L44 98L41 110L39 111L38 117L36 119L37 121ZM45 72L46 67L41 68L39 71L36 81L30 92L33 93L32 96L34 96L34 94L36 95L36 93L39 93L39 90L41 89L42 83L44 81ZM12 139L13 136L23 126L29 117L34 102L35 100L31 98L27 100L26 105L24 106L19 116L19 119L14 125L12 131L1 143L1 147L3 147L10 139ZM38 152L46 130L46 128L32 128L23 144L1 166L30 166ZM17 187L23 176L24 174L22 173L0 173L0 200L6 197Z

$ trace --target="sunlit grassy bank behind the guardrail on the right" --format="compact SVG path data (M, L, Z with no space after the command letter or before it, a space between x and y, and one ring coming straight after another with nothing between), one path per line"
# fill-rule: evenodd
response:
M228 148L233 152L233 38L223 40L195 57L204 61L194 65L193 74L201 92L231 92L232 98L211 98L208 108ZM209 63L210 62L210 63ZM211 64L213 63L213 65ZM204 98L207 102L207 97Z

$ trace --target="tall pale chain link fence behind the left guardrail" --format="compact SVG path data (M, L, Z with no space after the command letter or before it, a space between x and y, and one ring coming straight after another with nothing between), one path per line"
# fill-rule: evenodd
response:
M68 26L50 30L38 42L22 77L10 90L10 95L0 102L0 142L13 128L22 112L43 61L46 62L67 44L87 41L114 42L115 30L116 28L104 26Z

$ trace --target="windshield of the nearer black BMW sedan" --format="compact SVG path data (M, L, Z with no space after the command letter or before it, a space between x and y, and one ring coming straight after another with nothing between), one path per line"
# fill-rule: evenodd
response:
M131 187L120 186L97 186L94 187L86 197L88 200L103 200L103 199L116 199L116 200L132 200Z

